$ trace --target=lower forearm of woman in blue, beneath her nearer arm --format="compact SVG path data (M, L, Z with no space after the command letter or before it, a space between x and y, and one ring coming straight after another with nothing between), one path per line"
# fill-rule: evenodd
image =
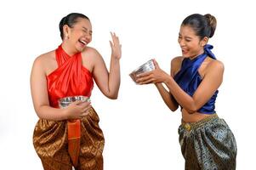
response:
M162 86L162 83L156 83L155 85L156 85L157 90L159 91L159 94L161 94L162 100L168 106L168 108L171 111L176 111L178 109L179 105L176 102L176 100L174 99L174 97L172 96L172 94L170 94L168 92L168 90L166 90Z

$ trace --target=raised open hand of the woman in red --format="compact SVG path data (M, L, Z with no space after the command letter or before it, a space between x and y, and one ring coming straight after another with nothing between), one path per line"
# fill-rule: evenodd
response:
M121 47L122 45L119 42L119 38L116 36L115 32L111 32L111 37L112 37L112 42L111 43L111 56L114 57L115 59L121 59L122 55L122 50Z

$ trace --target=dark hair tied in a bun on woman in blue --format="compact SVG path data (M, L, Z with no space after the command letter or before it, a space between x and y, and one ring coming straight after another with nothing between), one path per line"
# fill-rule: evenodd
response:
M213 37L217 26L217 20L211 14L191 14L183 20L181 26L191 26L200 39L203 37Z

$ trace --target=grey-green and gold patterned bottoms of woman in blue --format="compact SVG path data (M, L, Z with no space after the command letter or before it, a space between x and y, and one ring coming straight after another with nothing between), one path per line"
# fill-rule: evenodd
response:
M236 169L236 139L216 114L179 126L179 144L186 170Z

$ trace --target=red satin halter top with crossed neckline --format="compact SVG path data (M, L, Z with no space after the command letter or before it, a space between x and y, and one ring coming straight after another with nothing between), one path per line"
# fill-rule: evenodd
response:
M81 53L70 56L59 46L55 50L58 68L47 77L50 105L58 108L58 99L83 95L90 97L94 88L92 74L82 66Z

